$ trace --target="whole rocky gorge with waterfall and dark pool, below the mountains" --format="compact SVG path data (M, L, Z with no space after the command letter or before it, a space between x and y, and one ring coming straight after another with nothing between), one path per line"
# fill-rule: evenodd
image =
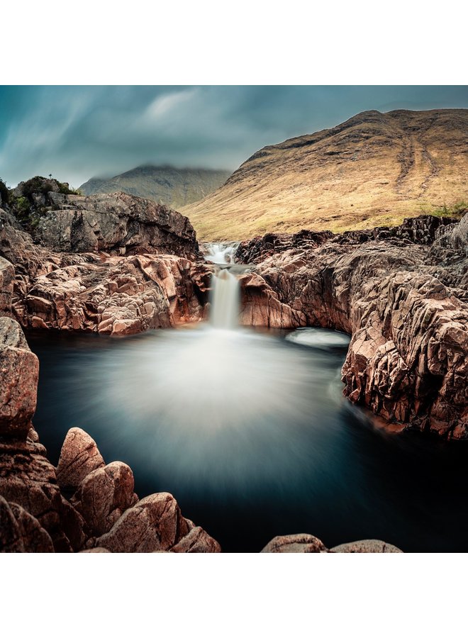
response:
M270 233L203 245L204 259L189 220L165 206L43 197L28 231L0 213L4 544L463 548L467 215ZM125 462L106 466L98 448ZM98 462L73 478L83 455ZM135 496L130 466L152 496ZM142 516L155 532L140 542L126 526Z

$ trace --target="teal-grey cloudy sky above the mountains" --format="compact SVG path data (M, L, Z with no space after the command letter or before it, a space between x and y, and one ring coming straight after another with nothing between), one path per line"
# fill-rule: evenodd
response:
M360 111L468 108L468 86L0 86L0 178L75 188L141 164L236 169Z

